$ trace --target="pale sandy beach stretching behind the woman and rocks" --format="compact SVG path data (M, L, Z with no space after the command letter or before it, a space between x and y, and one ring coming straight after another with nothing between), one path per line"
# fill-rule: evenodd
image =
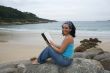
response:
M61 44L64 38L61 33L50 34L57 44ZM102 41L99 47L110 51L110 36L77 35L75 47L80 44L81 40L88 38L99 38ZM46 46L40 32L0 31L0 63L37 57Z

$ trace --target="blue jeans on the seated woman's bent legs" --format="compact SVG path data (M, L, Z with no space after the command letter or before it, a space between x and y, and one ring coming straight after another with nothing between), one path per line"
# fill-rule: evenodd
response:
M72 63L72 60L65 58L61 53L56 52L51 47L46 47L40 56L38 57L38 62L43 64L48 58L52 58L55 64L60 66L68 66Z

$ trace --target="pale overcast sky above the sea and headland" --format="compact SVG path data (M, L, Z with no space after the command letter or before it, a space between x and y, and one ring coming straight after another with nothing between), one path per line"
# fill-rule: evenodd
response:
M0 5L57 21L110 20L110 0L0 0Z

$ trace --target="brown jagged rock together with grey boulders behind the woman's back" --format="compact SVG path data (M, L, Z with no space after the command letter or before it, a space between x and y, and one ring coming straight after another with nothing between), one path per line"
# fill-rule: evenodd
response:
M86 58L99 61L105 70L110 71L110 52L105 52L98 48L101 43L97 38L89 38L80 41L80 45L75 48L74 58Z

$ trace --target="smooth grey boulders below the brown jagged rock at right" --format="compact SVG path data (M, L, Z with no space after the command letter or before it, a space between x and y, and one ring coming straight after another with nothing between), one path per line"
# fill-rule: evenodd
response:
M110 71L110 52L105 52L101 48L91 48L84 52L75 52L74 58L86 58L99 61L105 70Z

